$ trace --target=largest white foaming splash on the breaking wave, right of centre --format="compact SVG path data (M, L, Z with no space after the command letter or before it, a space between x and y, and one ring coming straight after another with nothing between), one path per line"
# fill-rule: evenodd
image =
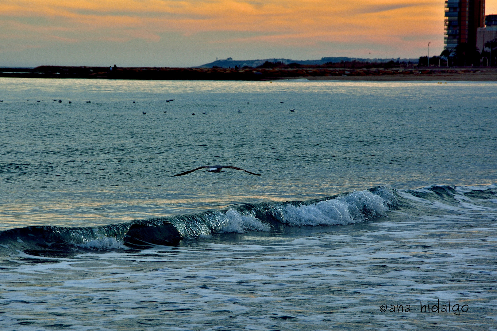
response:
M310 205L287 204L283 208L282 222L297 226L344 225L361 222L365 216L383 215L387 210L387 200L367 190L356 191L346 197Z

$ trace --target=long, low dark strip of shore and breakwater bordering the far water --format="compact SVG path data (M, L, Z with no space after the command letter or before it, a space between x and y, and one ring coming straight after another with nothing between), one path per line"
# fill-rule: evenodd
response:
M168 68L39 66L0 68L0 77L154 80L474 80L497 81L497 68Z

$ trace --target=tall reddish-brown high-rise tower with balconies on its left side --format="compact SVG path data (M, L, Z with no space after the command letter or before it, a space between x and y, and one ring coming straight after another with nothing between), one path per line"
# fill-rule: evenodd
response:
M485 23L485 0L445 1L445 49L476 45L476 32Z

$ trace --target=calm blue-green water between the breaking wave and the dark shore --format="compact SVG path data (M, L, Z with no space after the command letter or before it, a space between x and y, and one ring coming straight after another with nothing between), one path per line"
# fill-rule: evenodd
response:
M493 82L0 78L0 228L109 224L385 184L490 184L496 90ZM172 177L220 163L263 175Z

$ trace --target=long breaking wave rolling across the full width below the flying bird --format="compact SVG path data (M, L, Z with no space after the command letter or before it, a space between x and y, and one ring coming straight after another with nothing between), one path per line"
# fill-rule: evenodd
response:
M22 251L48 256L81 250L174 246L182 238L214 233L270 232L281 226L353 224L385 216L395 209L402 209L404 213L454 208L496 210L496 204L496 184L485 187L432 185L418 190L376 187L324 199L240 203L219 210L96 227L15 228L0 232L0 253Z

